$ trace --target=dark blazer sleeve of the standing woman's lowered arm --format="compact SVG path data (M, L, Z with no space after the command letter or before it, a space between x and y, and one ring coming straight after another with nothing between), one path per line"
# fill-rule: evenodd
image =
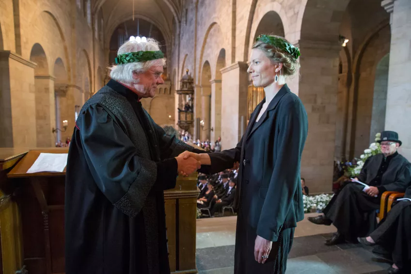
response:
M272 242L278 240L297 187L301 188L300 157L308 128L300 102L291 101L283 110L287 113L279 113L277 159L257 225L257 235Z

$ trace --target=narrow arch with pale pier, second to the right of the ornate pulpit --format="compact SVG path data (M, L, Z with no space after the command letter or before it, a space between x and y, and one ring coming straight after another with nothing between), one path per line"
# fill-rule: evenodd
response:
M221 137L221 69L225 67L225 49L221 48L217 57L215 78L211 80L211 142Z

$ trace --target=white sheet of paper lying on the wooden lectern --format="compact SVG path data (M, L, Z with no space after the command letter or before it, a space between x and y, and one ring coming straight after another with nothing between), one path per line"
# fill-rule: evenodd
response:
M27 173L63 172L67 165L67 153L40 153Z

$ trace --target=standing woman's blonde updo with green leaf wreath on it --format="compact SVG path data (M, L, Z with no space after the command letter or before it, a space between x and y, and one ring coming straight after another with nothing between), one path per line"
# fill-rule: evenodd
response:
M260 35L255 39L253 48L261 49L273 63L283 63L282 74L284 76L292 76L300 68L300 64L297 62L300 50L284 37Z

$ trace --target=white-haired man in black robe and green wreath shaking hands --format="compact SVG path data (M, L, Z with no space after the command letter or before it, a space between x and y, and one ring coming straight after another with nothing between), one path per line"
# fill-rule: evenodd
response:
M163 191L201 167L202 151L165 134L142 108L164 83L163 53L137 37L83 106L65 185L67 274L169 274ZM181 154L181 155L180 155Z

